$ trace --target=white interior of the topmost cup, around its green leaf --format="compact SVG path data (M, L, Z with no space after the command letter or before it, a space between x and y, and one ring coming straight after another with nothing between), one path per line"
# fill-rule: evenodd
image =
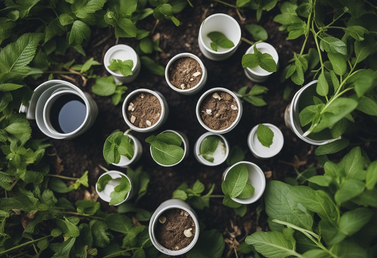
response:
M207 36L208 33L218 31L224 34L229 40L234 44L232 48L221 48L218 47L218 51L214 51L211 48L211 39ZM201 37L204 43L204 46L208 51L213 53L224 53L229 52L232 49L236 48L239 41L241 40L241 28L234 18L230 17L227 14L214 14L207 17L201 25Z

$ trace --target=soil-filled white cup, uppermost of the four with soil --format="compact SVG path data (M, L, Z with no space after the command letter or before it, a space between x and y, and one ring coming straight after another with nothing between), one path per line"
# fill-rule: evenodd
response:
M196 55L181 53L170 59L165 69L167 84L174 91L191 95L199 92L207 81L207 70Z

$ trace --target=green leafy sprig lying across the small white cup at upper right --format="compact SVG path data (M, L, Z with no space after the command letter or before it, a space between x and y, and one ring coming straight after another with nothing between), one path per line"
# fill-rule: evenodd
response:
M260 66L267 72L276 72L276 63L272 55L263 53L257 49L257 43L254 44L254 53L245 54L242 57L243 68L256 68Z

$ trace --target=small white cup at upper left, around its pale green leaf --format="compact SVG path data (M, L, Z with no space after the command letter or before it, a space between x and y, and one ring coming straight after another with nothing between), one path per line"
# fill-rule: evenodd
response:
M132 60L132 75L123 76L119 71L111 71L108 66L110 65L110 61L112 59L119 59L122 61ZM106 54L103 58L103 65L105 66L107 72L109 72L113 76L115 82L121 83L130 83L135 80L136 77L138 77L141 67L139 56L138 54L136 54L135 50L133 50L133 48L131 48L130 46L123 44L112 46L111 48L109 48L109 50L106 51Z

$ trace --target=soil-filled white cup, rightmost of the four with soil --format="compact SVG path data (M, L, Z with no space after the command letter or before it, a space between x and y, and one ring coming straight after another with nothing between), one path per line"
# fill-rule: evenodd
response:
M233 92L225 88L206 91L196 104L196 117L208 131L224 134L241 120L242 104Z

